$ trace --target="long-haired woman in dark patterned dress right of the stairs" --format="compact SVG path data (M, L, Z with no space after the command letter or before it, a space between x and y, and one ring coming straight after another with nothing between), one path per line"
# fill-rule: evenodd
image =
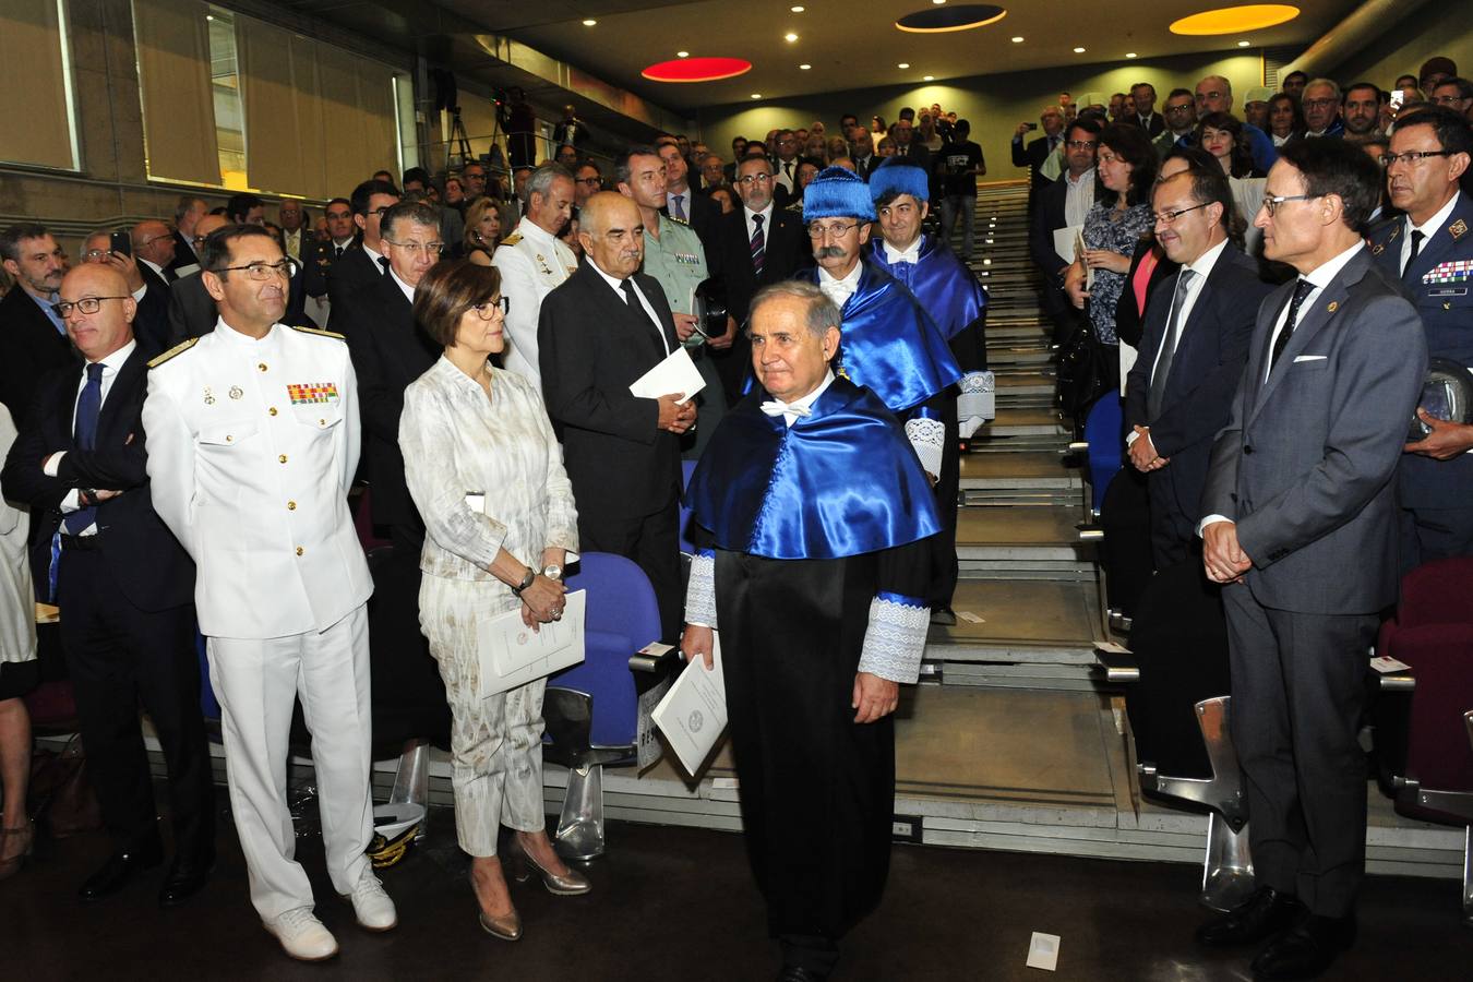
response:
M1109 125L1100 131L1097 156L1103 191L1084 218L1084 255L1069 268L1066 289L1075 308L1084 309L1089 300L1090 331L1105 352L1109 387L1119 389L1136 362L1136 349L1121 345L1115 334L1115 306L1125 289L1136 243L1150 234L1156 153L1140 127ZM1094 274L1089 290L1086 266Z

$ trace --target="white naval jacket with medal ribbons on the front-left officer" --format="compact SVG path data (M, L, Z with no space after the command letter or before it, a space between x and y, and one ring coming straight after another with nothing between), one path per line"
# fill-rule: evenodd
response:
M348 511L358 393L336 334L225 325L150 362L153 508L194 558L200 632L326 630L373 593Z

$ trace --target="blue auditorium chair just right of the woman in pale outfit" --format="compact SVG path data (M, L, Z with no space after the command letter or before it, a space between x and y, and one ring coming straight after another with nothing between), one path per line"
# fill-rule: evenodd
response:
M573 860L604 854L605 766L635 763L638 696L629 658L660 640L660 608L630 559L585 552L569 592L588 590L583 663L548 679L544 760L567 767L555 845Z

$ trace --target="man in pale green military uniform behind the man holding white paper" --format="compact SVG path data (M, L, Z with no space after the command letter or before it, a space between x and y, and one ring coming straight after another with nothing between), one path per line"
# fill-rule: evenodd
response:
M682 456L700 459L716 424L726 414L722 378L706 350L706 339L697 330L695 287L711 274L706 264L706 247L695 230L678 218L660 212L666 203L666 168L658 150L648 146L629 147L614 162L614 183L619 193L639 206L644 222L645 255L642 272L654 277L670 302L675 334L691 352L706 389L695 396L694 433L682 439Z

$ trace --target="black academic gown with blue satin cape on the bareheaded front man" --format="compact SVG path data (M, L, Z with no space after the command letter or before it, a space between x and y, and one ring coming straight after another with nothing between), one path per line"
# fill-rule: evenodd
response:
M823 969L825 947L875 908L890 869L894 718L856 724L851 707L871 602L927 596L940 520L919 461L868 390L835 378L792 430L759 409L767 398L750 393L726 415L691 478L691 505L695 545L714 555L748 858L770 933L790 961ZM857 433L863 449L806 453L795 437L815 427L841 434L835 442ZM850 474L843 489L823 480L835 473ZM841 493L813 493L823 486ZM800 498L807 504L794 506ZM863 514L840 518L856 498ZM876 521L888 529L876 533ZM848 540L835 549L837 537ZM866 539L894 545L868 549ZM784 552L772 548L779 540L787 557L819 558L762 555Z

